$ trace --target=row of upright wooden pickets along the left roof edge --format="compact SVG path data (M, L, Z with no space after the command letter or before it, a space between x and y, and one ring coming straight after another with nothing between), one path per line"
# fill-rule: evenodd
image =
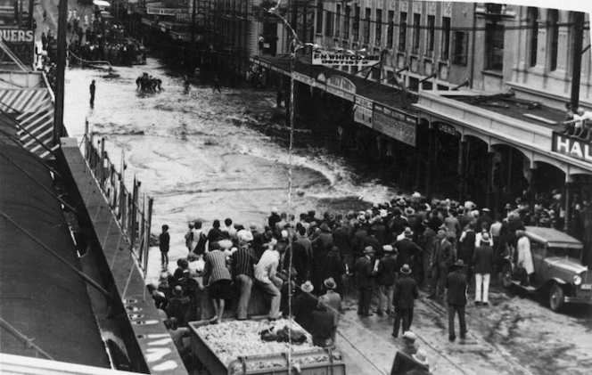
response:
M105 151L105 139L95 140L85 127L84 151L88 166L107 202L111 212L117 218L119 228L124 232L129 248L135 254L138 265L144 272L148 270L148 251L150 249L150 229L152 225L152 197L142 194L136 175L131 184L131 192L125 182L126 161L121 153L121 165L118 168L111 162Z

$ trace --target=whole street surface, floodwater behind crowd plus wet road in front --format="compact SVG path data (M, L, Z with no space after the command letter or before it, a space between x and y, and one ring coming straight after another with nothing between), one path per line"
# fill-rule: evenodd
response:
M136 91L143 72L160 77L164 92ZM171 257L186 256L184 234L188 221L201 219L210 229L214 219L262 226L272 207L288 211L289 129L283 110L275 108L272 92L192 86L185 93L182 79L167 74L159 61L117 68L118 78L106 71L69 69L66 72L65 124L78 141L85 119L104 137L111 160L119 166L122 151L126 178L133 175L154 197L152 233L169 224ZM96 80L95 108L89 106L88 86ZM296 132L303 142L307 136ZM299 138L301 137L301 138ZM309 209L345 213L390 200L395 189L361 171L346 159L318 148L300 148L293 155L292 213ZM374 173L379 175L379 173ZM148 281L160 273L160 254L153 248ZM399 340L391 338L392 318L376 315L360 320L357 301L349 296L340 325L338 345L351 373L390 371ZM450 344L446 307L422 298L416 306L414 330L438 374L555 374L589 373L592 368L592 317L589 306L573 306L555 314L536 298L513 296L494 287L489 308L469 306L469 336ZM380 347L380 350L376 350Z

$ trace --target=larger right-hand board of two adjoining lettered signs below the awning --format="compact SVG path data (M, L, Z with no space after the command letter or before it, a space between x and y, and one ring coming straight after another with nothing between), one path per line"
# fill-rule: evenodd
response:
M415 146L416 126L416 116L374 103L372 127L382 134Z

